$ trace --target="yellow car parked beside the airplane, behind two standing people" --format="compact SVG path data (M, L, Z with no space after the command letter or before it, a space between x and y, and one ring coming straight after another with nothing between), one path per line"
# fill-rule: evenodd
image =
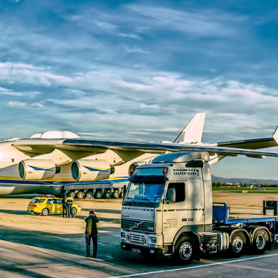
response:
M49 213L63 213L62 199L56 197L35 197L31 199L28 204L27 211L35 214L42 213L43 216L49 215ZM72 213L80 213L81 207L72 204Z

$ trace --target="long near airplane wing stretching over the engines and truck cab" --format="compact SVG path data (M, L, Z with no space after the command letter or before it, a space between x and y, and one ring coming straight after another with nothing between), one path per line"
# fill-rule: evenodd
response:
M193 145L178 143L146 143L120 140L94 140L94 139L22 139L13 142L13 145L22 152L33 154L48 154L54 149L69 152L83 152L84 157L90 154L101 154L111 149L118 154L121 152L142 152L151 154L162 154L164 152L208 152L210 155L220 154L222 156L245 155L254 158L264 156L277 156L275 152L261 152L252 149L240 149L233 147L220 147L212 145ZM240 144L238 144L240 145Z

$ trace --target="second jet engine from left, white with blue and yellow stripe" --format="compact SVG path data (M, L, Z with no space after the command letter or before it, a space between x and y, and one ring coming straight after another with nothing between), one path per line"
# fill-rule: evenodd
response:
M115 172L107 161L79 159L72 163L72 177L76 181L100 181Z

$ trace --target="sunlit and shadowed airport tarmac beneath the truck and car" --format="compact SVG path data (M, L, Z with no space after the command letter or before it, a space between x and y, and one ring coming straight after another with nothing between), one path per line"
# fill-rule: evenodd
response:
M231 212L261 213L273 194L213 193ZM145 261L120 247L122 199L75 200L75 218L32 215L31 196L0 197L0 277L278 277L278 245L261 256L223 254L202 257L188 266L170 258ZM277 197L278 199L278 197ZM85 257L85 218L93 209L100 219L97 259Z

